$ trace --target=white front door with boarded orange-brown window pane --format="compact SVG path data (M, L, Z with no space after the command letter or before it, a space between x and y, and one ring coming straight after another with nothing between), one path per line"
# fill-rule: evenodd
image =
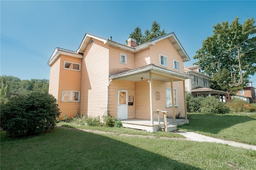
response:
M128 91L118 90L117 97L117 119L128 119Z

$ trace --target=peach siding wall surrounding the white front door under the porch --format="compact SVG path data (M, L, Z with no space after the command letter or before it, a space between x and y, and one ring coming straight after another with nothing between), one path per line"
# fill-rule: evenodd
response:
M113 117L117 117L117 93L118 90L127 90L128 91L128 102L129 101L129 96L131 96L131 99L134 99L133 105L128 106L128 119L136 118L136 113L135 113L135 105L136 105L136 100L135 100L135 82L132 81L122 81L122 80L113 80L110 83L109 86L109 101L108 101L108 110L109 114Z

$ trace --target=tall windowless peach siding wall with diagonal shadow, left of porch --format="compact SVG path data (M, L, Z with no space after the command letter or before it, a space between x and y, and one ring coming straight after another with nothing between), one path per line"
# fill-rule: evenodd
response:
M84 51L82 59L80 113L104 115L108 86L108 45L94 40Z

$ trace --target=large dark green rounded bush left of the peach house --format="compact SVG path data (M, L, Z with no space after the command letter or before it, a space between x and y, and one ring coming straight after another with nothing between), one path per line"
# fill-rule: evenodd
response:
M1 129L12 136L46 132L56 126L60 109L56 99L47 93L30 93L11 98L1 105Z

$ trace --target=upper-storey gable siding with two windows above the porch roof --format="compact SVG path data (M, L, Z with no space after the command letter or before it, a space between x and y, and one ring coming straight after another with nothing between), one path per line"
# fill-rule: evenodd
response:
M168 67L160 65L159 54L167 57ZM173 60L180 63L180 71L174 70ZM178 51L175 49L174 45L170 42L168 38L160 42L156 42L155 45L150 47L150 61L154 65L158 65L160 67L164 67L179 73L184 73L182 57L180 57Z

